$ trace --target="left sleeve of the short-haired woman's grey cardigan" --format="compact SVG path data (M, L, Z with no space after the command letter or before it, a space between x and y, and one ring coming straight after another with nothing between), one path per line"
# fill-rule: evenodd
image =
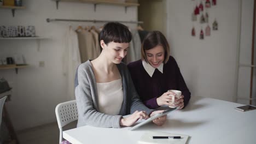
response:
M88 72L88 71L87 71ZM120 115L106 115L98 112L94 107L95 97L92 91L95 89L92 79L94 75L87 73L83 67L78 68L78 85L75 87L75 99L78 109L78 127L91 125L103 128L120 128Z

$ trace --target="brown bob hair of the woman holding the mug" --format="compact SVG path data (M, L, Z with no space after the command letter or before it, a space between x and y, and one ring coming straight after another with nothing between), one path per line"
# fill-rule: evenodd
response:
M161 45L165 51L165 59L164 63L168 62L170 47L165 38L165 35L159 31L149 32L146 38L144 38L142 45L141 45L141 58L142 60L148 63L148 59L146 56L146 50L153 49L154 47Z

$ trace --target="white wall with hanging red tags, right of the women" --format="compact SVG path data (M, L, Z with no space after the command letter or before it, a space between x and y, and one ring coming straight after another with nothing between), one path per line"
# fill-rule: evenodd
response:
M192 95L235 101L238 0L217 1L216 6L208 9L211 29L215 18L219 29L211 31L211 36L204 40L199 39L199 30L201 27L204 30L206 24L201 25L199 17L197 22L191 21L194 2L199 4L201 1L167 1L167 38L171 55L176 58ZM246 18L242 25L251 26L253 0L243 3L243 17ZM191 37L193 25L196 37ZM252 43L250 28L241 35L242 39L251 40L246 43L249 46ZM243 43L245 41L241 45ZM241 55L251 57L247 53ZM243 82L248 81L245 79Z

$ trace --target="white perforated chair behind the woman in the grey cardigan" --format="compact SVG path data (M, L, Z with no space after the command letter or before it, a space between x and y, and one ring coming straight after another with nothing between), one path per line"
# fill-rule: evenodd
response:
M62 128L78 119L77 103L75 100L60 103L55 108L57 123L60 129L60 143L62 142Z

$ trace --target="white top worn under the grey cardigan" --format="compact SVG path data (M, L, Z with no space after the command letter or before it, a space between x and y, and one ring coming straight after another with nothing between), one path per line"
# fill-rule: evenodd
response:
M108 115L118 115L124 100L121 79L110 82L97 82L99 111Z

